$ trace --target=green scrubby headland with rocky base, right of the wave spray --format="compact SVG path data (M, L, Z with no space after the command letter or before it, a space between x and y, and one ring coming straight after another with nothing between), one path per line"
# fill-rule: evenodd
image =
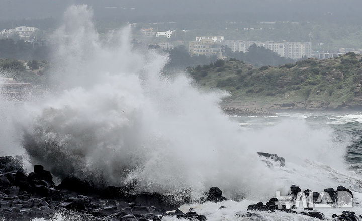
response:
M237 108L347 109L362 107L362 55L307 59L278 67L231 59L188 70L206 89L231 92L222 106Z

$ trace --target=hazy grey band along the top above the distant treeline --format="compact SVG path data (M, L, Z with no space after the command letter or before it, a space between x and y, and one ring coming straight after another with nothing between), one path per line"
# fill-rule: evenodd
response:
M353 22L362 17L361 0L0 0L0 20L59 18L67 6L81 3L92 6L96 18L131 22L187 18Z

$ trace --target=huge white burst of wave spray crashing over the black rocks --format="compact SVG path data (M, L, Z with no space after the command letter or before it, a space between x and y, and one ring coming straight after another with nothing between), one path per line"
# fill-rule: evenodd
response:
M225 94L201 92L184 73L162 75L167 57L132 48L130 27L101 39L85 5L70 7L56 34L50 93L7 109L14 138L1 137L32 164L61 178L194 197L211 186L233 199L266 199L292 184L349 182L331 176L344 170L346 145L331 128L294 119L244 131L219 108ZM267 168L259 151L285 157L287 168Z

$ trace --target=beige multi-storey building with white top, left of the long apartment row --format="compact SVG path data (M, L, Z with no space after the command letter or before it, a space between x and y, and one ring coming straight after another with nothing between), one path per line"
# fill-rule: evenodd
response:
M215 42L213 39L200 39L200 41L190 41L189 42L189 53L190 55L218 55L222 56L222 47L221 42Z

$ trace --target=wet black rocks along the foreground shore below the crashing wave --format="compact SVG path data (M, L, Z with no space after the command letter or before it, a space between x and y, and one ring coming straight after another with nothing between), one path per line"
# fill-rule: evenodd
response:
M258 154L269 167L272 164L284 166L284 158L278 157L276 154L261 152ZM324 190L333 196L334 202L339 191L347 191L352 194L342 186L339 186L336 191L334 189ZM300 188L293 185L289 196L294 200L298 192L300 192ZM313 196L314 201L319 195L311 190L305 190L303 193ZM222 196L222 191L217 187L211 187L209 192L196 202L216 203L224 200L228 199ZM43 166L35 165L34 171L26 175L21 157L0 157L0 220L51 219L57 212L69 211L73 216L79 216L84 220L160 221L166 216L174 216L188 220L206 221L207 217L197 214L193 208L186 213L178 209L181 205L191 202L188 197L176 200L173 195L137 193L131 186L108 186L104 189L97 189L75 177L67 177L59 185L55 185L52 174L44 170ZM309 211L309 208L297 213L292 210L293 208L288 209L285 206L279 208L276 202L278 199L272 198L266 205L262 202L249 205L247 210L250 212L244 212L241 216L257 219L258 211L281 210L321 220L325 219L324 214ZM246 208L240 209L245 210ZM239 213L236 215L240 216ZM357 216L354 212L349 211L344 211L338 216L333 215L333 218L333 220L362 220L362 216Z

